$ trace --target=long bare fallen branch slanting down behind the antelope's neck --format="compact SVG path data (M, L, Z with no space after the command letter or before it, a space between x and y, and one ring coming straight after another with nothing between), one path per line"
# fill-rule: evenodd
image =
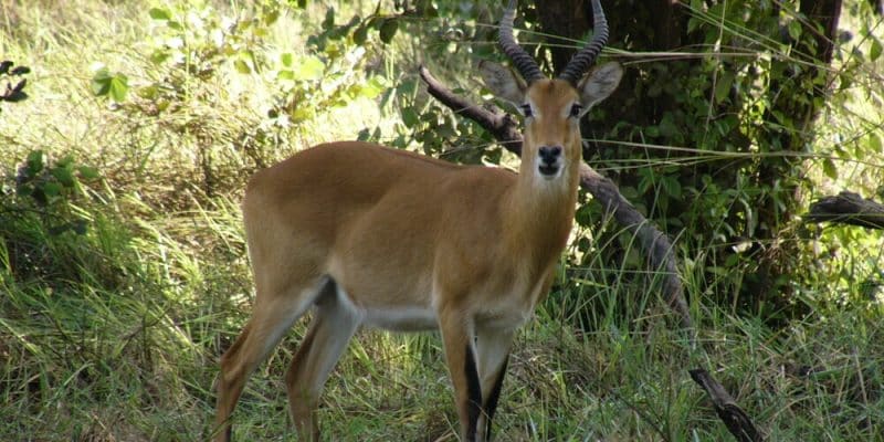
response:
M440 103L448 106L455 114L470 118L488 130L507 150L522 154L522 133L518 123L509 115L497 108L477 106L462 96L451 92L442 85L427 67L420 67L421 80L427 84L427 92ZM614 220L632 234L634 234L645 251L650 254L651 266L664 272L663 293L670 306L678 314L682 325L691 330L692 344L694 324L687 309L682 282L676 269L675 252L672 242L665 234L635 210L632 204L620 194L617 185L601 176L589 165L580 165L580 187L592 193L608 213L613 213Z

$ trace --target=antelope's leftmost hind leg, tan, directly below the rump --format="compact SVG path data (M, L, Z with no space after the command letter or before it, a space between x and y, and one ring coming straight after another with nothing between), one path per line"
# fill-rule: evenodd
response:
M286 290L273 293L259 290L252 317L236 341L221 357L213 429L215 441L230 441L230 414L236 407L245 381L280 344L295 320L313 305L327 282L327 277L319 277L318 282L314 278L303 286L290 285Z

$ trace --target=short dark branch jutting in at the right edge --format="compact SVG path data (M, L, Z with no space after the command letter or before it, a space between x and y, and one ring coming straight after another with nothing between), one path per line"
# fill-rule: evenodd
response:
M856 193L842 191L810 206L804 215L810 222L835 222L869 229L884 229L884 206Z

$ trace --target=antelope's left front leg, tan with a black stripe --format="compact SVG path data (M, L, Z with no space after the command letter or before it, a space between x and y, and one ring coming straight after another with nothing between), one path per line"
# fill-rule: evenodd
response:
M476 441L478 417L482 413L482 387L473 348L472 318L460 309L440 314L440 329L445 347L445 361L454 386L454 400L461 421L461 440Z

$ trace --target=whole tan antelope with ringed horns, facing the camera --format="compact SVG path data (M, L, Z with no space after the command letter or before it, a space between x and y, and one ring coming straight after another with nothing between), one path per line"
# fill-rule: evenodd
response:
M319 440L323 385L360 326L439 329L460 438L491 439L514 334L546 297L571 230L579 119L622 75L613 62L589 70L608 39L599 0L592 8L593 39L552 80L515 42L515 0L504 12L499 45L522 77L488 62L480 71L524 115L517 173L339 141L252 177L242 208L256 294L221 357L217 441L231 438L249 376L309 309L285 376L301 440Z

